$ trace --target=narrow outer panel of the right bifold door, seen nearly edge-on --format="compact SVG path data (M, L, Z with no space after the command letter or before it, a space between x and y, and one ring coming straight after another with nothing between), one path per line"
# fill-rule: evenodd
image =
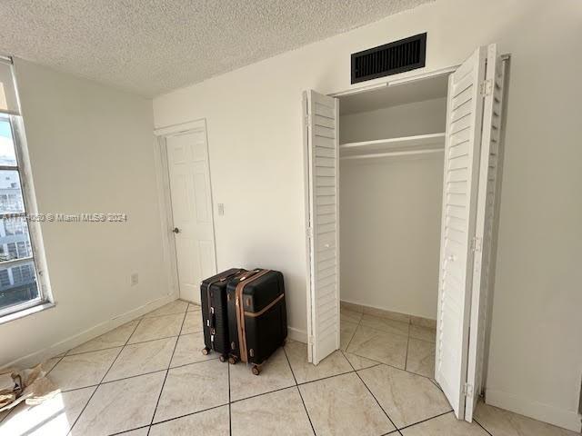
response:
M481 157L477 193L477 217L474 243L473 291L467 366L467 397L465 419L472 421L483 384L483 359L487 330L493 225L497 185L497 162L503 105L504 65L497 57L495 44L487 47L486 82L483 109Z

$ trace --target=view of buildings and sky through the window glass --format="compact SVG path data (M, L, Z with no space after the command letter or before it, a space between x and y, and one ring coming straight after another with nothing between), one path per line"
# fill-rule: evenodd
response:
M39 299L14 138L0 114L0 310Z

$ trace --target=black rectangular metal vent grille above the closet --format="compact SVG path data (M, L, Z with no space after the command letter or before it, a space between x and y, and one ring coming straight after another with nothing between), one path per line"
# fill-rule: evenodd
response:
M352 84L422 68L426 33L352 54Z

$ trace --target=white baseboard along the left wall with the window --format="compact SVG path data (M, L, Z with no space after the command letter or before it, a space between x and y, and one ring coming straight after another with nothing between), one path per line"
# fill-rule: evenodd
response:
M28 368L37 363L45 362L47 359L55 357L63 352L67 352L72 348L75 348L82 343L90 341L97 336L101 336L102 334L109 332L120 325L125 324L125 322L130 322L135 320L147 312L151 312L156 310L159 307L162 307L164 304L168 302L173 302L177 299L175 294L168 294L163 297L157 298L151 302L147 302L131 311L122 313L120 315L115 316L111 320L107 320L105 322L101 322L87 330L85 332L77 333L73 336L66 338L63 341L55 342L54 344L46 347L43 350L38 352L33 352L28 354L24 357L18 358L13 362L9 362L5 365L6 368L15 367L15 368Z

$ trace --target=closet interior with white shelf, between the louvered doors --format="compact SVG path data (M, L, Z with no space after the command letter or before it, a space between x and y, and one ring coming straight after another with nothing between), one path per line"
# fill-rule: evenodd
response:
M430 378L447 84L338 97L340 348Z

